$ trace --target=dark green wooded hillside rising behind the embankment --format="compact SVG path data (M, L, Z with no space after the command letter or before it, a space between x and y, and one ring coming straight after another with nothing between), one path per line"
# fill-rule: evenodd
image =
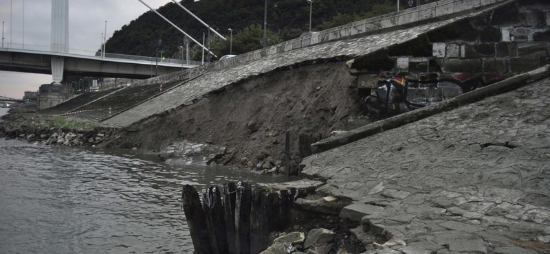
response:
M407 0L401 1L406 8ZM434 1L434 0L428 0ZM422 3L428 2L423 0ZM309 30L309 3L305 0L272 0L277 8L268 3L267 34L270 45L297 38ZM138 3L136 3L138 4ZM229 36L228 28L233 30L233 54L261 49L263 37L263 0L184 0L188 10L210 24L224 36ZM345 23L379 16L397 10L395 0L314 0L313 30L325 30ZM181 27L190 36L202 43L208 29L181 10L175 3L167 3L158 12ZM158 45L159 39L162 44ZM109 53L155 56L157 48L166 51L165 56L180 58L179 46L184 45L184 36L174 27L162 20L154 12L146 12L138 19L115 31L107 41ZM228 38L229 39L229 38ZM229 54L229 40L223 41L212 35L211 47L215 54ZM208 43L207 43L208 44ZM190 46L195 45L190 43ZM195 47L190 52L193 59L201 58L201 50Z

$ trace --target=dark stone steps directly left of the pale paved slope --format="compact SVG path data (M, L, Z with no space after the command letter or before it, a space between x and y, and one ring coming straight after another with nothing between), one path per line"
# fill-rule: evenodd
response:
M162 84L162 91L167 91L171 87L180 84L181 81L168 82ZM159 93L160 84L148 84L144 86L130 86L126 89L113 93L107 97L103 97L96 102L77 108L73 110L75 117L84 119L90 119L94 121L100 121L106 117L109 117L109 108L111 108L111 115L124 111L126 108L130 108L135 104L138 104L150 97L153 97ZM79 111L84 111L76 113Z

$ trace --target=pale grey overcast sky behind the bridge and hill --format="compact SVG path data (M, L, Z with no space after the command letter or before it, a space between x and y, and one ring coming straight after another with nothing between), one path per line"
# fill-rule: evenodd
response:
M25 45L50 46L52 1L24 1ZM170 0L144 0L144 2L156 9ZM12 24L10 24L10 5L12 6ZM120 30L122 25L137 19L148 10L137 0L69 0L69 48L96 51L100 48L100 37L105 29L105 21L107 21L107 36L111 37L115 30ZM23 0L0 0L0 21L4 21L4 43L10 43L10 41L14 44L23 43ZM11 33L10 27L13 29ZM37 91L41 84L52 81L51 75L0 71L0 95L21 98L24 91Z

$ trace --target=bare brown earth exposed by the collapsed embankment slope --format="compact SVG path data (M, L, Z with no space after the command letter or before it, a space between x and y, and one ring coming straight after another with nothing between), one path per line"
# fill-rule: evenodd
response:
M226 163L267 168L262 165L283 160L289 131L297 165L298 134L345 129L359 112L354 81L344 62L274 71L124 128L108 146L160 150L180 140L212 143L228 148L225 157L233 159Z

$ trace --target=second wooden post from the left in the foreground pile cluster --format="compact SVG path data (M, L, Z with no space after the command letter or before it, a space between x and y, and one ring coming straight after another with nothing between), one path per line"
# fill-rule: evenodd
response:
M225 221L221 207L221 196L217 187L211 186L202 191L202 207L206 214L206 229L212 253L227 254L228 241L225 235Z

